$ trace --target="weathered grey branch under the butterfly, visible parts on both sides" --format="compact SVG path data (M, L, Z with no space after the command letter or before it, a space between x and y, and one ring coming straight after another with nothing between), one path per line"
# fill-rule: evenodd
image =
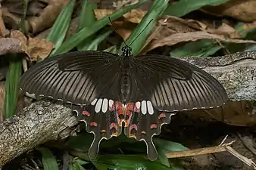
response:
M256 52L184 57L218 79L231 100L256 99ZM0 123L0 168L45 141L67 137L79 122L61 103L41 100Z

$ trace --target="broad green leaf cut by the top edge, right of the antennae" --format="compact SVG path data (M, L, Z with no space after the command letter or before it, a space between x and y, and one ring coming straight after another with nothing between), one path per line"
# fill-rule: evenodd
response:
M183 17L192 11L198 10L206 5L217 6L222 5L229 0L180 0L170 3L163 15L172 15L176 17Z

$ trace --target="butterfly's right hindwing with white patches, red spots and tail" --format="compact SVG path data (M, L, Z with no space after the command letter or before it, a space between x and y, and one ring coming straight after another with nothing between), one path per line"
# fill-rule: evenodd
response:
M126 105L124 133L128 138L145 141L148 159L158 158L152 138L161 132L161 125L170 123L174 113L163 113L155 110L150 101L137 101Z

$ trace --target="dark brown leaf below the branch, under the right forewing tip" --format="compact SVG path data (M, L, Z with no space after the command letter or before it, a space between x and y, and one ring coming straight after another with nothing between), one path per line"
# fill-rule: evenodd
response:
M204 117L206 120L214 118L229 125L256 125L256 108L250 101L246 100L229 102L219 108L209 110L192 110L183 113Z

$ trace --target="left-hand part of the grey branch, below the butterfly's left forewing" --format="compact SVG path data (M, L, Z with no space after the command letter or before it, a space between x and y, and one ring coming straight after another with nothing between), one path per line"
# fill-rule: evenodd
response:
M40 100L0 123L0 169L11 159L45 141L67 138L78 124L61 103Z

